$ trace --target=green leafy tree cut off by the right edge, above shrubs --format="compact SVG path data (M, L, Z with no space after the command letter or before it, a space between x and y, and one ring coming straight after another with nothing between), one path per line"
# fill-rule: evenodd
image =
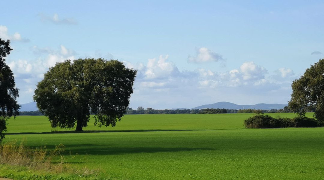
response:
M291 100L289 108L298 113L305 115L310 108L315 107L314 117L318 121L324 121L324 59L319 60L305 73L296 79L292 86Z

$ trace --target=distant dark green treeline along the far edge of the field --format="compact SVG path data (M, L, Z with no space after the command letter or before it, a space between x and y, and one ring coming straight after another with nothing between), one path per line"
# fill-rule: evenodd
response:
M254 113L255 109L152 109L148 107L144 109L143 107L138 107L137 109L133 109L131 107L126 109L126 114L226 114L226 113ZM287 106L283 109L270 109L270 110L257 110L263 113L288 113L293 112ZM314 109L309 109L307 112L314 112ZM20 116L43 116L40 111L22 111L19 112Z

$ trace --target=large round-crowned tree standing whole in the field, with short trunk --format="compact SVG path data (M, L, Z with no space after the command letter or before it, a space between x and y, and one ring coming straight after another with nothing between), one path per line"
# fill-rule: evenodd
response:
M122 62L77 59L56 63L37 84L34 101L52 127L86 127L90 114L95 125L115 126L133 93L136 71Z

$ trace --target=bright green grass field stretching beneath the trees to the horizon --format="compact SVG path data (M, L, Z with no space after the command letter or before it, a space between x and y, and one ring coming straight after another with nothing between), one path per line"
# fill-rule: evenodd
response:
M68 166L96 169L99 179L323 179L324 128L244 129L251 115L126 115L114 128L91 121L85 133L19 116L8 121L5 141L62 143ZM46 174L0 166L0 176L8 173Z

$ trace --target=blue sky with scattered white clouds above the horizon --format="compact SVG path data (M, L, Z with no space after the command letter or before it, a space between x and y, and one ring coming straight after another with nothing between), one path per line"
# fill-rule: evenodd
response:
M32 101L48 67L103 57L138 70L130 107L286 104L324 57L323 1L5 1L6 63Z

